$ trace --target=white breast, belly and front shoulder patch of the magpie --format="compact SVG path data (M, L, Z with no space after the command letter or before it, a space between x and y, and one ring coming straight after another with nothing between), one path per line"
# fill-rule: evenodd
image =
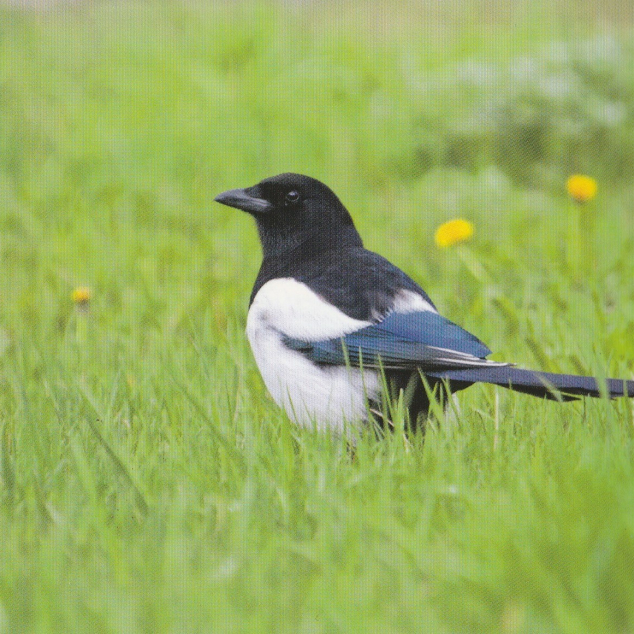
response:
M364 328L290 278L271 280L258 291L247 319L247 337L264 383L275 402L300 425L343 432L367 419L367 399L379 397L378 373L342 366L316 366L287 348L284 335L306 341L332 339Z

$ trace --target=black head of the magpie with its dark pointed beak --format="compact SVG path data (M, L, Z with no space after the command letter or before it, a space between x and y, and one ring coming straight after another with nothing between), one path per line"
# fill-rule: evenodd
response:
M362 246L348 210L329 187L309 176L280 174L215 200L255 218L265 258L298 247L319 253Z

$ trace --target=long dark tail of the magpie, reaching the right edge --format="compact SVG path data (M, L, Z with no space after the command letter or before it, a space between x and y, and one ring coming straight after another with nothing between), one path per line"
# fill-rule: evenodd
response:
M603 394L610 398L619 396L634 397L634 381L605 379L605 382L591 376L575 376L572 374L552 374L550 372L533 372L513 366L491 366L468 370L449 370L430 373L439 379L447 379L452 388L461 389L472 383L493 383L502 387L524 392L533 396L559 400L566 397L579 396L600 397ZM602 385L603 384L603 385Z

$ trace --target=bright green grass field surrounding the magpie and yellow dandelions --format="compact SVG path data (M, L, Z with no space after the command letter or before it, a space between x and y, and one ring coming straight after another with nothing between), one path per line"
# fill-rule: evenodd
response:
M268 397L256 232L213 203L318 177L493 358L631 378L601 6L0 8L0 633L634 631L632 403L475 386L352 458Z

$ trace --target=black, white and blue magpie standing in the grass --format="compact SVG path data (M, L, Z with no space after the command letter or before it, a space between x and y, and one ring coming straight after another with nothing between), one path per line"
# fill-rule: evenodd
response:
M372 421L389 426L386 402L399 394L410 424L420 425L431 398L474 383L558 401L634 397L634 381L487 359L482 341L363 246L346 207L317 179L279 174L215 200L255 219L262 264L246 334L273 400L300 426L337 434Z

